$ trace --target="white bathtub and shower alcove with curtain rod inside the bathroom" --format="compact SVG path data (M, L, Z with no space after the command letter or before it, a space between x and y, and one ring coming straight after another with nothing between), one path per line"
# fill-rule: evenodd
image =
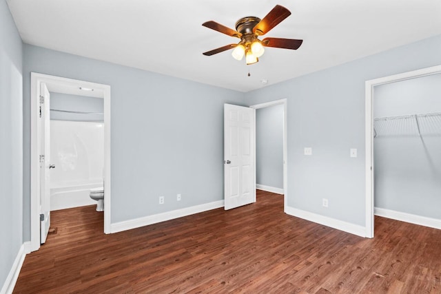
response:
M96 204L90 189L103 187L103 98L49 92L50 211Z

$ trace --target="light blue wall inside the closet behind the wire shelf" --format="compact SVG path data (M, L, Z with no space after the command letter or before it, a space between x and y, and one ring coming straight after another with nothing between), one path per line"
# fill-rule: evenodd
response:
M378 85L373 116L441 113L441 74ZM378 125L382 123L382 125ZM375 206L441 219L441 116L382 120L374 138Z

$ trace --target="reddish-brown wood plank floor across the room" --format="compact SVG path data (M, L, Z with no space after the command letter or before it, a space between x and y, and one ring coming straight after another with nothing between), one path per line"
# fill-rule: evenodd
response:
M93 206L52 212L14 293L441 293L441 230L376 217L360 238L283 213L283 196L105 235Z

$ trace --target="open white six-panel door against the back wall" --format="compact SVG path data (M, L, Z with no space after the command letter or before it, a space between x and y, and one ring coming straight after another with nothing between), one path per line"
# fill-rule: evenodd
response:
M225 210L256 202L256 109L224 105Z

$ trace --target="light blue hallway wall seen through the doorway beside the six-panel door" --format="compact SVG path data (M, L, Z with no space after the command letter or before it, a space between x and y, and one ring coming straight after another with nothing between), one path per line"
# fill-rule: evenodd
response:
M283 189L284 105L256 109L256 184Z

